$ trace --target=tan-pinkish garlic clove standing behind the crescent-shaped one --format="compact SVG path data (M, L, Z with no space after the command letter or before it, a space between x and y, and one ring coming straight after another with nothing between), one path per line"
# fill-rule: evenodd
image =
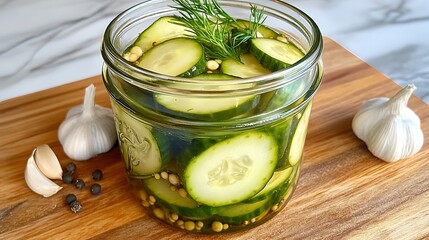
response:
M34 159L37 167L46 177L60 180L63 178L63 169L61 168L60 162L54 151L52 151L48 145L43 144L37 146Z

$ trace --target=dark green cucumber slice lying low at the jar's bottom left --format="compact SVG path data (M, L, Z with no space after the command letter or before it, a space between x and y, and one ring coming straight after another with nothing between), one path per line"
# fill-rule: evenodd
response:
M162 206L187 218L205 218L215 214L214 208L199 205L189 197L183 197L178 191L172 191L170 183L165 179L147 178L143 185Z

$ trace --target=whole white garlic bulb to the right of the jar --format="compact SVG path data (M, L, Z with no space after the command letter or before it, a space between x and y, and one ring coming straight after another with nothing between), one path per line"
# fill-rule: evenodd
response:
M374 156L394 162L422 148L420 118L407 107L408 99L415 89L410 84L391 99L370 99L354 116L353 132L366 143Z

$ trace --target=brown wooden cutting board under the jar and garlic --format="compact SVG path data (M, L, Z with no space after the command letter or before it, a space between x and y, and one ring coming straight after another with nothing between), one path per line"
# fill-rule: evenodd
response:
M99 76L0 103L0 239L422 239L429 237L429 106L412 97L420 116L423 149L385 163L351 130L368 98L393 96L400 87L340 45L325 39L325 78L313 105L302 175L287 207L246 232L207 236L176 231L151 219L129 191L119 148L76 162L84 191L65 185L43 198L27 188L24 168L32 149L49 144L63 166L69 160L57 139L68 109L94 83L96 102L109 106ZM91 196L91 172L102 169L102 193ZM64 203L75 193L73 214Z

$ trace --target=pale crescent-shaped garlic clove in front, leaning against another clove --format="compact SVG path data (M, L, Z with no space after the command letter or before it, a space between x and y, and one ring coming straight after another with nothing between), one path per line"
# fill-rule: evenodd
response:
M33 150L33 153L27 161L27 166L25 167L25 182L33 192L43 197L50 197L61 190L62 187L43 175L34 160L35 152L36 149Z

